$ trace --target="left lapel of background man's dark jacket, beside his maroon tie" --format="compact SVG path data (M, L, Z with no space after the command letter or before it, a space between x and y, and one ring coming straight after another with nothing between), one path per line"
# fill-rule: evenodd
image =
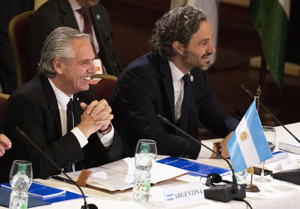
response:
M68 0L61 0L58 1L58 3L61 11L65 12L65 15L62 16L62 21L64 25L79 30L72 7Z

